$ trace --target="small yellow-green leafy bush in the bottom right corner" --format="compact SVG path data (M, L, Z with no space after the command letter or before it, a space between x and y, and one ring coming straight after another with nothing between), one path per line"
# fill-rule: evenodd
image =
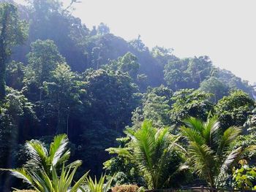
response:
M256 189L256 167L250 167L247 164L241 164L239 169L233 170L234 187L238 190Z

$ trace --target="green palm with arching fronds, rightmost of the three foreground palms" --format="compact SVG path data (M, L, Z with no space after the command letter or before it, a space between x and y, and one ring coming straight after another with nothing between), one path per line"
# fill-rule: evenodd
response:
M184 120L186 126L181 126L181 134L189 142L189 164L195 173L208 182L210 188L217 187L217 179L222 173L255 146L232 149L231 145L241 134L241 128L230 127L225 131L219 126L216 117L208 118L206 122L196 118Z

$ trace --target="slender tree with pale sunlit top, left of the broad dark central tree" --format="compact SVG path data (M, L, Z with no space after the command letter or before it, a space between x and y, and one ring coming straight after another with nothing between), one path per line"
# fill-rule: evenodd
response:
M42 102L44 109L51 111L56 117L57 133L69 131L69 115L78 108L80 95L83 94L83 82L79 82L74 72L67 64L58 64L50 72L52 78L44 82L45 100Z

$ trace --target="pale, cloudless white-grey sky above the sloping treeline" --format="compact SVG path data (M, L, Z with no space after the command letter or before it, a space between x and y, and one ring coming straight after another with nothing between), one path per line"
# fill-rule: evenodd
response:
M208 55L215 66L256 82L255 0L80 1L73 15L89 28L102 22L126 40L140 34L146 46L173 48L180 58Z

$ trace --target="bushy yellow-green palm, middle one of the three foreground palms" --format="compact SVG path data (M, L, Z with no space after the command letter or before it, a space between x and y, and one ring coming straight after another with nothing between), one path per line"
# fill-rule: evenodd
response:
M144 120L137 131L127 129L126 134L131 139L127 147L110 148L108 151L125 156L135 163L148 188L159 189L170 183L171 177L178 172L178 168L168 172L168 167L175 167L170 162L176 153L178 138L173 139L168 128L154 128L148 120Z

